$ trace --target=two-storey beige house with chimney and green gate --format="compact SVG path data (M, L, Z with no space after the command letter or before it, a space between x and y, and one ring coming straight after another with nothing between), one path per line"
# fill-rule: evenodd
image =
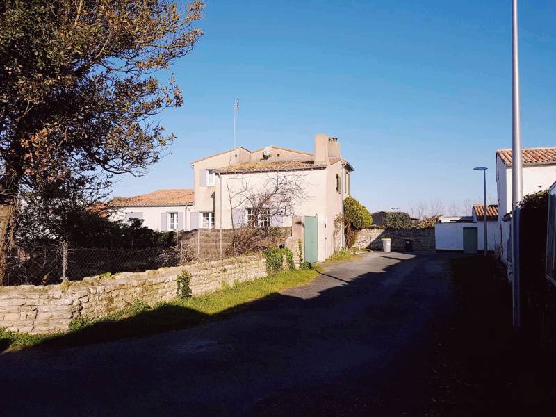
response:
M341 157L337 138L316 135L313 153L274 145L254 151L236 147L193 161L191 167L192 229L240 227L250 220L256 195L276 181L290 181L295 190L281 197L292 202L291 194L297 193L295 204L275 213L273 206L280 202L270 203L266 214L259 213L259 226L292 227L302 222L309 261L323 261L343 247L343 228L338 233L335 220L343 214L343 199L350 195L354 168Z

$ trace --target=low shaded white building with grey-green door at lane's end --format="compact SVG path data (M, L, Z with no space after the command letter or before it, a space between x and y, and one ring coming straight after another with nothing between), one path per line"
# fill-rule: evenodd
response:
M476 254L484 251L484 205L473 204L472 215L441 217L434 224L436 250L439 252L464 252ZM493 251L500 241L498 206L486 206L486 245Z

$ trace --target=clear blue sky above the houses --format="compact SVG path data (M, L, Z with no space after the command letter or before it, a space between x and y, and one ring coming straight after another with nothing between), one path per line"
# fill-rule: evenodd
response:
M556 2L521 1L523 146L555 145ZM337 136L370 211L480 200L511 147L509 0L207 1L206 34L172 67L186 105L161 122L177 140L113 195L190 188L190 161L238 145L312 151Z

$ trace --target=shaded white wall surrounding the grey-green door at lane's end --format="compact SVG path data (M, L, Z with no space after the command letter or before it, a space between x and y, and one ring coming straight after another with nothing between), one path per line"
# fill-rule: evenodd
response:
M484 223L436 223L434 224L434 235L437 250L464 250L464 227L477 228L477 244L479 251L484 250ZM486 224L488 250L495 250L497 242L500 242L500 227L498 222L490 221Z

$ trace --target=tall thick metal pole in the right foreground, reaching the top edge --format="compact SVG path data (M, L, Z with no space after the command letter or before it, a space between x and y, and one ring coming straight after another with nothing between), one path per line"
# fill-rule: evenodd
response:
M521 156L521 108L519 102L519 48L517 0L512 7L512 295L514 330L521 329L521 199L523 173Z

